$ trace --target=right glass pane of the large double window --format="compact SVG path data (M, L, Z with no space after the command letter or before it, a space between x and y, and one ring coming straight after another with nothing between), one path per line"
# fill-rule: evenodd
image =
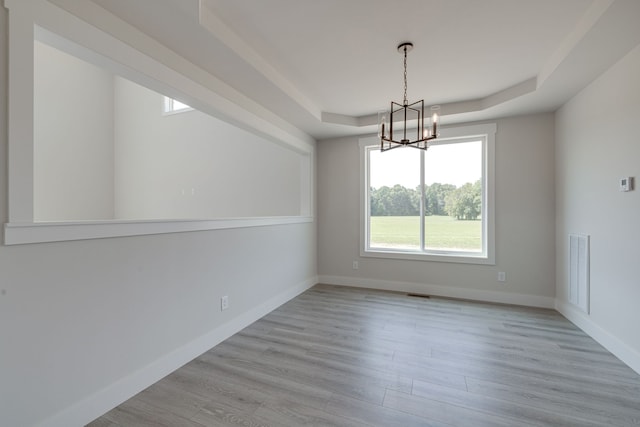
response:
M482 141L425 154L425 249L482 251Z

